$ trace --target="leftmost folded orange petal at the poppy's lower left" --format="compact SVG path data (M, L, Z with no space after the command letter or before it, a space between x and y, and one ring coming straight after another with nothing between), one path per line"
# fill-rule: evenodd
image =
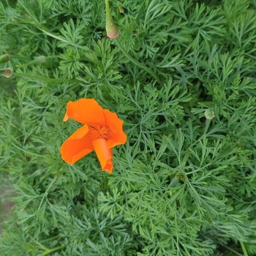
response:
M83 125L61 145L61 158L73 165L79 159L93 151L89 128Z

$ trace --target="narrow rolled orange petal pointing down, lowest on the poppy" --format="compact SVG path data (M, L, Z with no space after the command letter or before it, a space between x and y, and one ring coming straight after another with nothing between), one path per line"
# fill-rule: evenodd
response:
M102 167L102 171L108 171L111 174L113 169L112 149L107 147L107 142L104 139L94 140L93 146L94 146L96 155L99 159L99 163Z

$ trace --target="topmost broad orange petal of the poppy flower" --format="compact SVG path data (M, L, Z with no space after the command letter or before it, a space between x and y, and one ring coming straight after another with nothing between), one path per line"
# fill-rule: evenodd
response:
M103 108L95 99L79 99L76 102L68 102L63 121L67 121L69 118L84 125L105 125Z

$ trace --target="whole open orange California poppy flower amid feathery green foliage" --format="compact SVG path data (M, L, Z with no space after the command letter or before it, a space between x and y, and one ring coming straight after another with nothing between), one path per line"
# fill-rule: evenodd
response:
M103 171L112 173L112 149L126 142L123 121L116 113L103 109L95 99L79 99L67 103L63 121L73 119L83 124L62 145L61 157L73 165L95 150Z

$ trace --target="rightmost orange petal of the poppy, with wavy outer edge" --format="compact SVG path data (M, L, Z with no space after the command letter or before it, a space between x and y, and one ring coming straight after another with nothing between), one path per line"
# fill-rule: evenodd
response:
M118 118L116 113L110 112L108 109L104 109L104 115L106 125L113 133L111 139L107 142L108 148L124 144L126 142L126 135L122 129L123 121Z

